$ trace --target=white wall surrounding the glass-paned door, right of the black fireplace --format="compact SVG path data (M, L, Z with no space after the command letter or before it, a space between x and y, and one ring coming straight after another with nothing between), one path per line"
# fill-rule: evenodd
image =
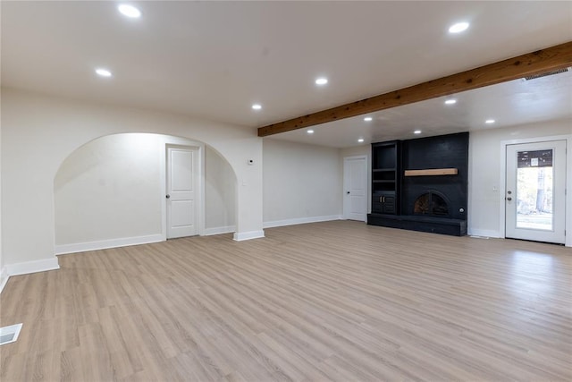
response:
M501 142L572 134L572 120L532 123L504 129L490 129L469 134L469 234L500 237L501 203ZM568 184L572 178L568 147ZM569 186L568 186L569 187ZM495 191L496 190L496 191ZM570 192L568 188L568 211ZM568 213L568 216L572 214ZM569 221L570 219L568 219Z

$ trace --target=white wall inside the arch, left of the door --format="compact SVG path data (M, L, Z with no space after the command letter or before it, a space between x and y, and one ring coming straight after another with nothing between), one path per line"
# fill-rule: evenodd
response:
M162 233L161 147L153 134L92 140L55 175L55 245Z

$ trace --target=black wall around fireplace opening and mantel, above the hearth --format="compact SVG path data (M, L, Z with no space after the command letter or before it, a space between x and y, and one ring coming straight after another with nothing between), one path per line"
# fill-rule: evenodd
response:
M404 176L401 215L414 215L417 197L438 191L449 205L450 218L467 219L468 132L402 141L402 171L457 168L457 175Z

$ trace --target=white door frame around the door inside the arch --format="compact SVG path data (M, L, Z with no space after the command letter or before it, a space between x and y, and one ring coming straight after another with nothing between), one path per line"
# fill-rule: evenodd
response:
M167 240L167 149L198 149L198 235L205 235L205 144L194 140L175 139L165 142L161 155L161 231Z

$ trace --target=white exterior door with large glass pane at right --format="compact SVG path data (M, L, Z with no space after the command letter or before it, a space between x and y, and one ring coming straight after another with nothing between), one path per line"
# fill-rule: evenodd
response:
M506 237L566 240L566 140L507 145Z

